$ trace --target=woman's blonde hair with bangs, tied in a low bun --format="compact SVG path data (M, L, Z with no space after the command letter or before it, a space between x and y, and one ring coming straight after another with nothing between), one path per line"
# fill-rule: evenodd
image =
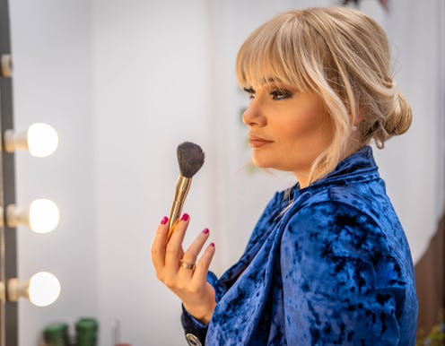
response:
M351 146L357 150L373 139L381 149L411 124L411 108L392 79L385 31L351 8L276 16L242 44L236 69L241 86L256 89L272 77L322 99L334 134L312 163L310 183L335 169Z

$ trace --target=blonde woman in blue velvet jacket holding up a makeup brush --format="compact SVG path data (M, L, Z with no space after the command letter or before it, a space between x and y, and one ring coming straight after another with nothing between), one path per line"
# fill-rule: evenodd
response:
M403 134L411 109L380 26L348 8L284 13L237 57L252 160L297 179L276 193L240 261L208 272L208 229L184 251L153 239L157 277L183 303L190 344L414 345L417 299L404 231L368 143Z

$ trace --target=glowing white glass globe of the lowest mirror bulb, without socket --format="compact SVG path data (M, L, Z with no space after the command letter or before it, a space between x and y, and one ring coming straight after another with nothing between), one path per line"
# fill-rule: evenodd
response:
M47 307L57 300L60 282L50 272L37 272L31 276L28 294L32 304Z

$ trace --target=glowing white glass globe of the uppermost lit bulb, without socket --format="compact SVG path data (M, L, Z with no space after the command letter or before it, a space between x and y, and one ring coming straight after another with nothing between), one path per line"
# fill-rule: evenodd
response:
M28 128L28 150L32 156L44 158L57 149L58 135L56 130L44 123L32 124Z

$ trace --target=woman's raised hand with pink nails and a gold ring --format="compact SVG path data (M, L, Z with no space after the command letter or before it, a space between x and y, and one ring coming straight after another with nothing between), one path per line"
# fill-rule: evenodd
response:
M188 228L189 217L184 214L167 241L169 221L164 217L156 230L152 244L152 263L156 277L175 293L191 316L208 324L216 306L214 288L207 282L207 272L214 257L214 244L205 248L196 264L197 255L205 245L210 232L204 229L184 252L182 242ZM196 264L193 269L181 267Z

